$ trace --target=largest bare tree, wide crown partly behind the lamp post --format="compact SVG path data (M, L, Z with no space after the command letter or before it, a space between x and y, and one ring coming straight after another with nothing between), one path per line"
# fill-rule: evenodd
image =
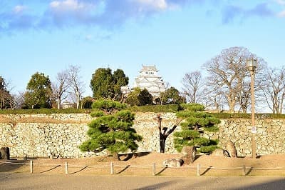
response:
M247 70L247 59L257 58L244 47L232 47L224 49L221 54L215 56L206 64L204 68L208 71L207 86L217 86L222 92L224 100L227 102L229 112L233 113L236 106L240 106L243 111L249 105L249 84L246 81L249 76ZM265 62L257 58L259 67L257 74L264 68ZM258 79L259 77L257 77ZM258 84L258 83L257 83Z

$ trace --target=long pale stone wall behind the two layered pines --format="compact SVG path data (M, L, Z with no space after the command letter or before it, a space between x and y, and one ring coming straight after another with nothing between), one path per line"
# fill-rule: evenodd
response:
M137 113L134 128L143 136L138 151L160 151L159 132L155 113ZM3 117L3 116L2 116ZM11 122L0 123L0 147L8 146L11 156L92 156L78 149L88 139L88 114L36 114L4 115ZM23 119L41 118L41 122L28 123ZM21 120L22 119L22 120ZM43 122L46 119L47 122ZM51 122L57 121L57 122ZM162 114L162 127L175 124L174 113ZM257 154L285 154L285 120L257 119ZM180 130L178 126L176 130ZM207 138L219 139L219 146L224 148L228 140L237 147L238 156L250 156L252 133L249 119L224 119L219 124L219 132L204 134ZM168 136L166 153L177 153L174 149L173 136Z

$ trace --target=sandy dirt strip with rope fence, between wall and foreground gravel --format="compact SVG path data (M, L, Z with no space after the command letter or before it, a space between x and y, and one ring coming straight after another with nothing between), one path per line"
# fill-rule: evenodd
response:
M202 176L284 176L285 155L266 155L252 158L227 158L224 156L197 156L191 165L180 168L165 168L165 159L179 159L180 154L140 153L123 155L115 161L110 156L97 156L80 159L31 159L34 174L110 175L132 176L197 176L197 165L201 166ZM5 163L6 162L6 163ZM13 164L11 164L13 163ZM22 164L25 163L25 164ZM155 168L154 168L155 164ZM243 167L246 167L245 171ZM155 170L155 171L154 171ZM0 161L0 172L30 173L30 160Z

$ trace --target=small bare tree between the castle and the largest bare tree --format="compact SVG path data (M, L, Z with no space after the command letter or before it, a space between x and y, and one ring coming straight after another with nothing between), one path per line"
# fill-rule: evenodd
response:
M182 91L184 92L187 102L197 103L201 101L202 74L200 71L187 72L182 79Z

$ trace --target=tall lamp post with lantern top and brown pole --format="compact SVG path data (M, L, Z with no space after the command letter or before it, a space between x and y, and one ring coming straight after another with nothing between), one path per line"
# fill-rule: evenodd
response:
M251 88L251 96L252 96L252 158L256 159L257 154L256 154L256 149L257 145L255 142L255 134L257 133L257 126L255 126L255 118L254 118L254 74L255 70L257 69L257 59L249 59L247 60L247 69L250 71L250 76L251 76L251 83L250 83L250 88Z

